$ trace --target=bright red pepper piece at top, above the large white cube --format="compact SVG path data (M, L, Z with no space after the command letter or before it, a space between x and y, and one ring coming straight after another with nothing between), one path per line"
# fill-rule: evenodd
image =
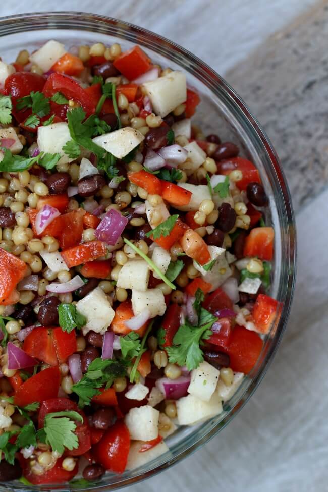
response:
M113 63L114 67L129 80L134 80L139 75L148 72L151 67L150 59L140 46L134 46L124 51Z

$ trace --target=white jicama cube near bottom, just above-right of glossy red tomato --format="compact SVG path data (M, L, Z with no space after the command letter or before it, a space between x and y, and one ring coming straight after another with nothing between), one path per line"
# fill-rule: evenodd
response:
M131 408L125 416L131 439L151 441L158 436L159 412L150 405Z

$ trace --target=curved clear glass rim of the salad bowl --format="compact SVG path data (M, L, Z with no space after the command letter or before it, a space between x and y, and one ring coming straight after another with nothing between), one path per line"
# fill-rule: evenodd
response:
M187 438L187 446L183 451L178 453L173 458L167 455L162 455L156 460L160 462L156 468L151 469L152 463L149 463L149 470L142 470L134 477L125 478L116 481L113 484L100 484L99 486L92 487L94 490L105 491L114 490L119 487L124 487L135 483L140 478L147 478L159 471L162 471L177 461L190 455L199 446L205 444L211 439L218 431L224 428L227 423L235 416L240 409L244 406L246 401L253 394L257 388L259 382L263 378L272 358L278 348L280 340L282 338L285 326L287 323L291 299L293 295L294 283L295 283L295 260L296 260L296 233L294 228L294 215L291 207L291 198L288 187L286 185L284 173L279 165L279 160L275 150L270 144L266 134L260 128L257 120L251 115L247 106L242 99L234 92L230 85L225 82L220 76L218 76L210 67L204 62L195 57L192 53L184 50L180 46L170 42L169 40L162 38L150 31L140 29L137 26L127 24L125 22L104 18L92 14L83 13L36 13L36 14L23 14L19 16L11 16L0 19L0 36L16 34L25 31L34 31L41 29L74 29L74 30L92 30L95 33L103 33L105 35L113 35L115 37L122 38L131 42L137 42L144 47L152 49L157 53L171 59L175 63L179 64L186 71L194 75L200 80L206 87L208 87L214 95L222 99L228 106L229 111L234 115L237 122L245 129L249 131L249 135L252 137L252 144L257 148L257 152L265 152L266 157L269 159L272 165L271 186L274 188L275 195L280 195L283 199L278 201L278 215L280 220L280 227L284 233L284 242L282 243L285 264L284 269L281 272L281 277L285 279L285 283L279 287L278 296L282 300L280 305L280 312L277 316L276 323L272 329L274 339L267 339L263 348L263 357L259 359L256 367L252 370L250 377L247 378L245 384L236 395L233 397L231 408L227 409L226 414L220 421L217 418L206 422L201 427L201 433L199 433L198 439L195 439L194 434L190 434ZM286 281L287 279L287 281ZM198 430L197 430L198 431ZM192 441L192 443L191 443ZM16 485L16 484L15 484ZM0 487L1 489L2 487ZM10 485L4 484L4 489L12 490ZM31 487L24 486L20 488L17 484L16 490L33 489ZM34 488L36 489L36 488ZM53 486L42 486L37 488L42 490L59 490L64 492L66 490L87 490L90 487L61 487L54 488Z

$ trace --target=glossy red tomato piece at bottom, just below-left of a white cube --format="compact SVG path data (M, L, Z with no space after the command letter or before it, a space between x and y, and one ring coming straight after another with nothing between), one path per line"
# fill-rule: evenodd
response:
M130 433L123 422L118 420L93 447L96 461L106 470L123 473L130 450Z

